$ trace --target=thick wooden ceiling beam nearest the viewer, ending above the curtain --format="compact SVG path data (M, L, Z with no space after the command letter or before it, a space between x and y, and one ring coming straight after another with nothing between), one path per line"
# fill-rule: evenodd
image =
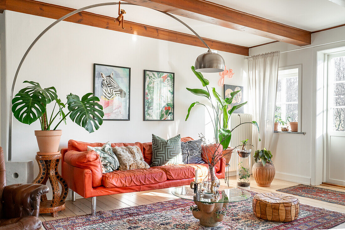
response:
M311 32L206 0L125 0L179 16L247 32L297 46L311 44Z

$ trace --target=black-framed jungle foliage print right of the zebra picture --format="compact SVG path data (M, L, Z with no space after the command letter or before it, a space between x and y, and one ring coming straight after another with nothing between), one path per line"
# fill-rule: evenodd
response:
M174 120L175 73L144 70L144 121Z

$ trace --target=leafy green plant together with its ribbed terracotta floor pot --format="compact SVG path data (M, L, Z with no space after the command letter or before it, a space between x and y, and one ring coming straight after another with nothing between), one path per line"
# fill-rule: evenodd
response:
M276 174L272 162L272 153L267 149L256 150L254 153L253 177L260 187L269 187Z

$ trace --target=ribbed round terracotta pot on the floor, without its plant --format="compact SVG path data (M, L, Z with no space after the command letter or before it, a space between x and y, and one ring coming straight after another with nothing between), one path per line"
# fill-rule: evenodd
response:
M276 169L272 163L266 163L265 166L259 162L253 165L253 177L259 187L269 187L276 174Z

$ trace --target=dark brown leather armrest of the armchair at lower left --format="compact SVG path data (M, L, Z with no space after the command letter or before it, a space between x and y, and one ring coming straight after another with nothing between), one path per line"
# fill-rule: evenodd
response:
M41 195L49 192L43 184L11 184L2 192L2 211L5 218L38 217Z

